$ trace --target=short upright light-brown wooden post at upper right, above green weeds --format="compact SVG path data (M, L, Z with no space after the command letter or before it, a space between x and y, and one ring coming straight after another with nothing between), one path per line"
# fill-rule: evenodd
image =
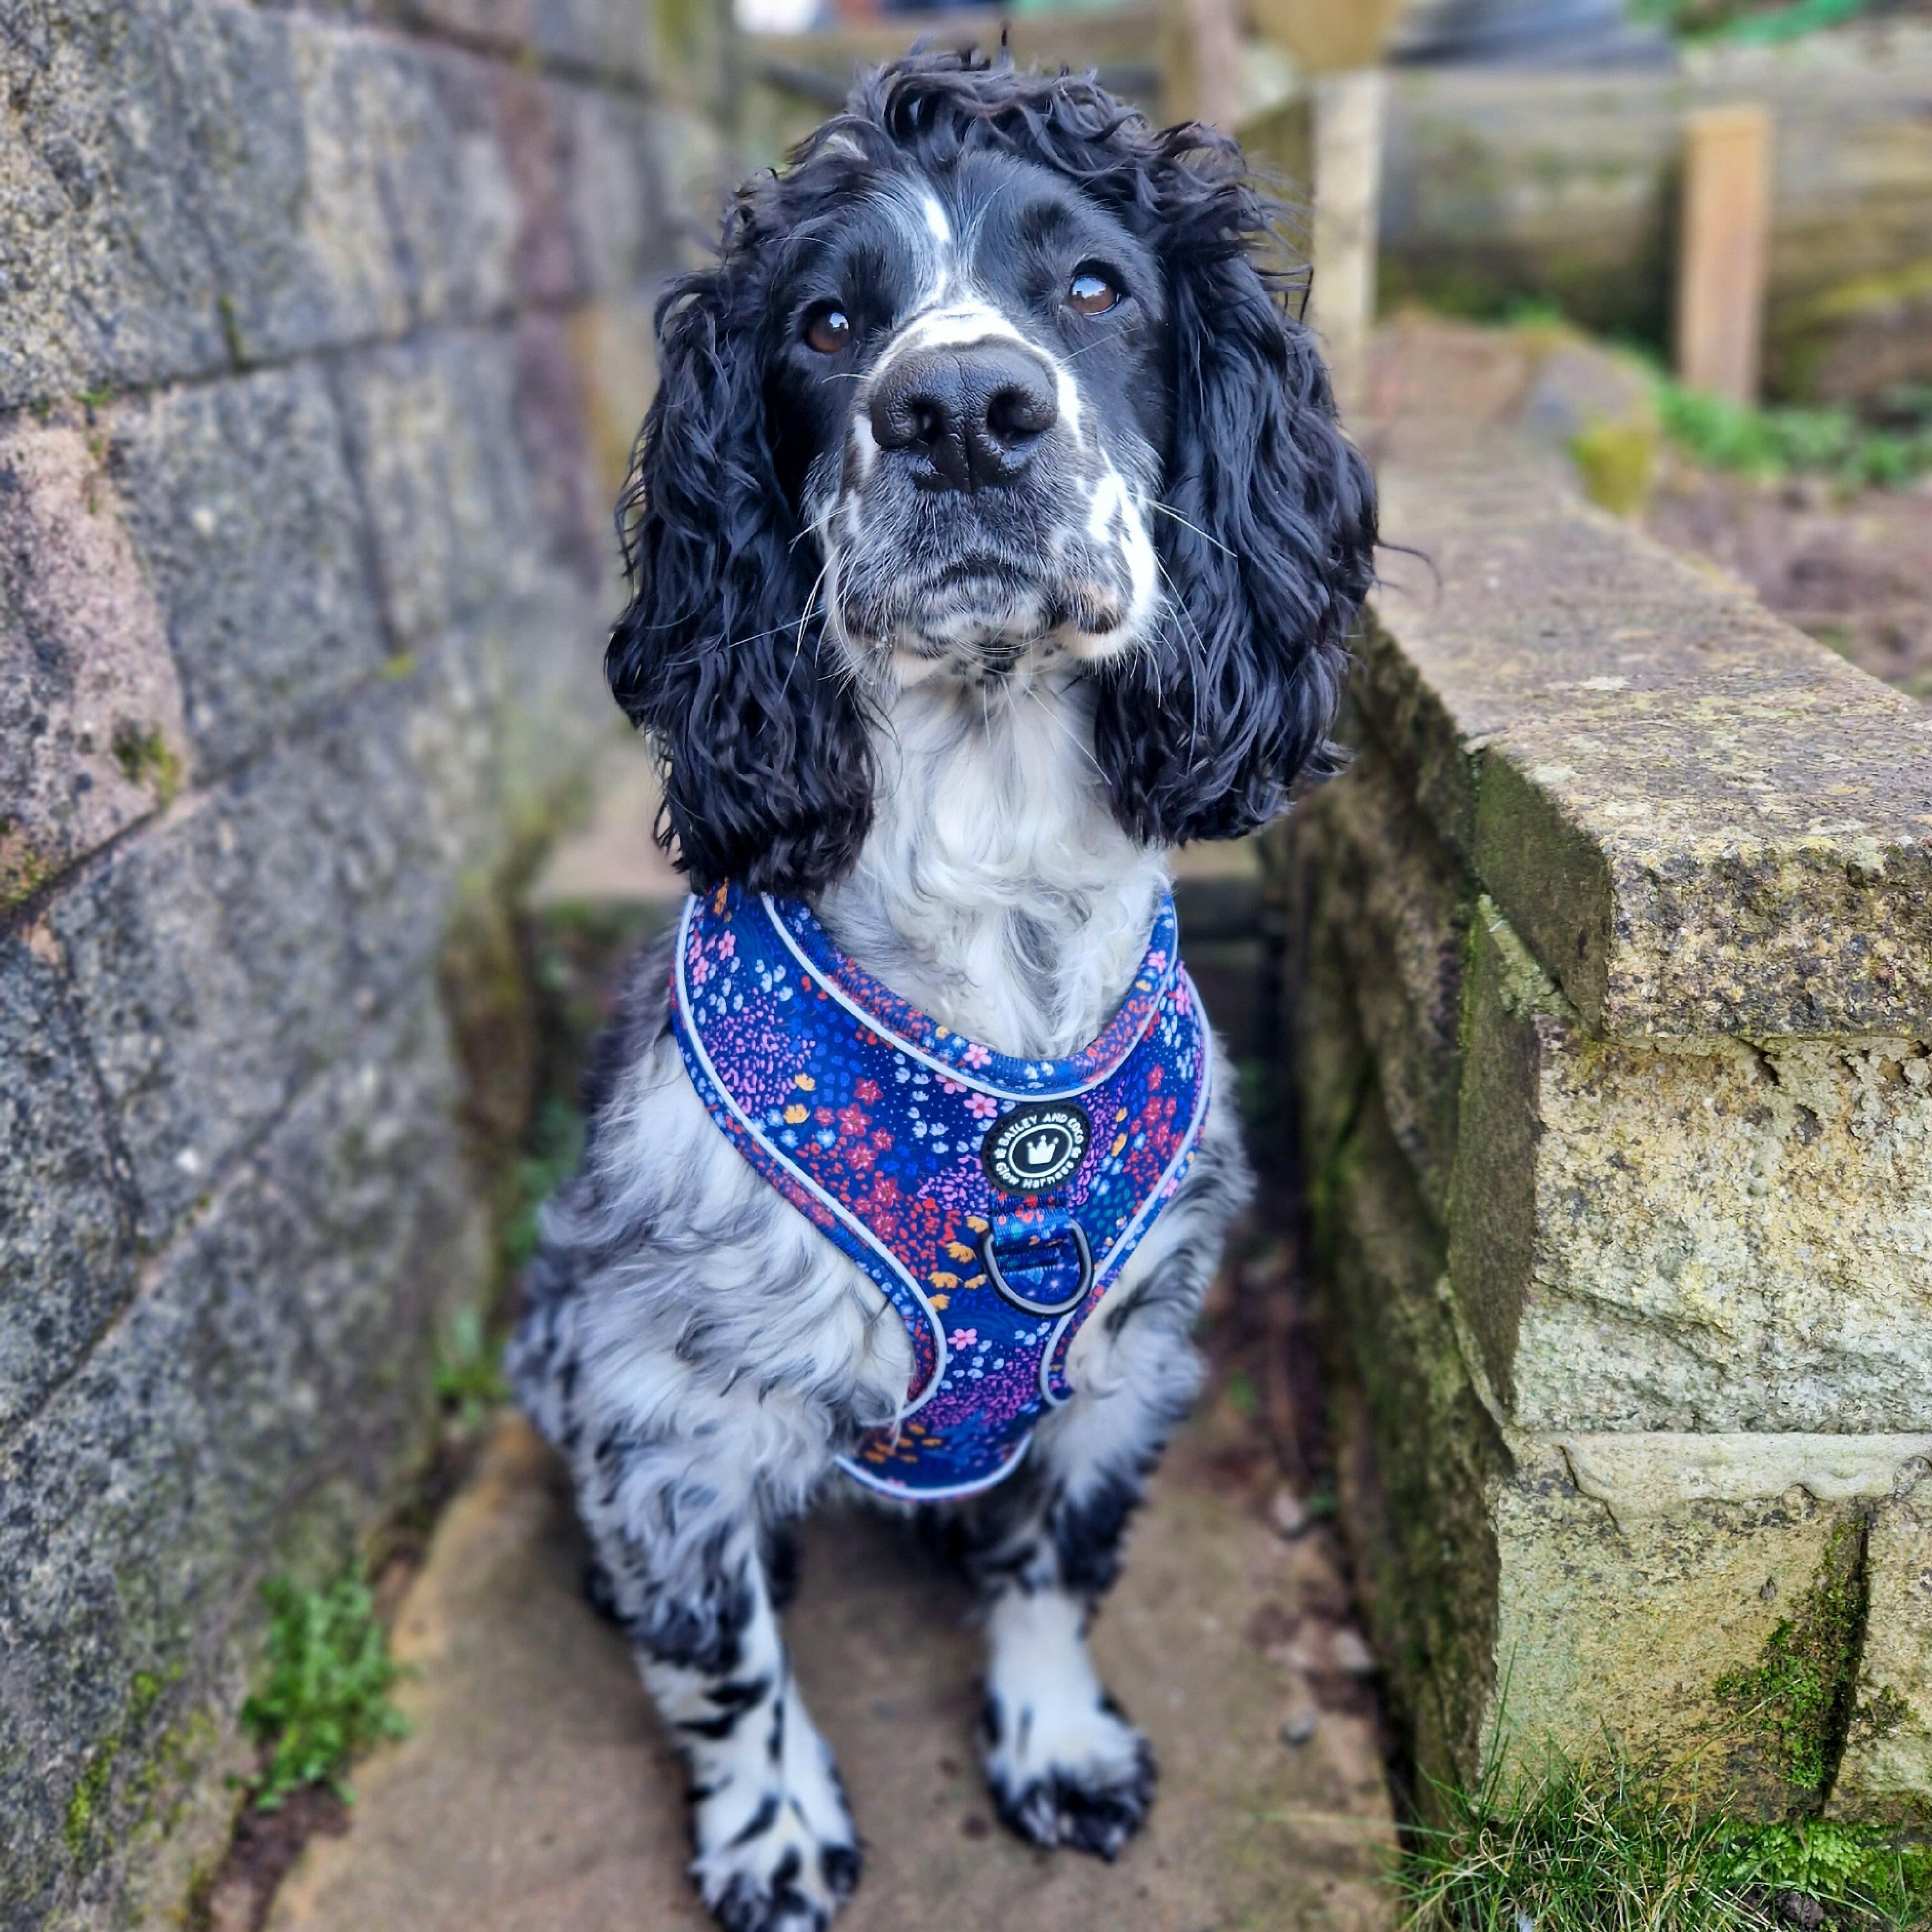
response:
M1772 116L1756 102L1685 122L1677 375L1756 402L1772 228Z

